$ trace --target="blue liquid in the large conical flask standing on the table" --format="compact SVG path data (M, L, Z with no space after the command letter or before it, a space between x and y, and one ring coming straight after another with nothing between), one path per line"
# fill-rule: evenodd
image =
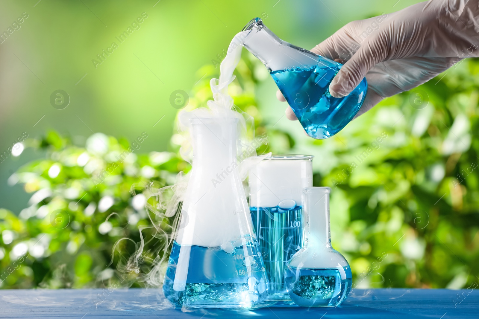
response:
M180 254L184 253L189 253L187 269L178 267ZM186 280L182 280L184 273ZM181 246L174 242L163 293L173 304L186 308L253 307L267 295L258 243L248 235L221 247Z

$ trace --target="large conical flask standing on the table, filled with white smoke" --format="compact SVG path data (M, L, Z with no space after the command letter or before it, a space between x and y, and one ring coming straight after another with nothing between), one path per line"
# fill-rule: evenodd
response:
M193 118L193 162L163 293L185 308L254 308L266 297L237 154L238 119Z

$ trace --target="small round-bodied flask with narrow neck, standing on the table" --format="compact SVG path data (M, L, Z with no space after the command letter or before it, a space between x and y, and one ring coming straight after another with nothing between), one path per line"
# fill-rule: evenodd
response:
M306 187L304 198L304 247L286 267L289 296L302 307L334 307L351 291L351 268L331 247L329 187Z

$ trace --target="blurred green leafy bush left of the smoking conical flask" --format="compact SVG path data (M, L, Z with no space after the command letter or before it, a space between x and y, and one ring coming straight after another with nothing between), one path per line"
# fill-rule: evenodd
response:
M96 133L78 147L52 131L35 140L46 159L24 165L9 180L32 194L31 206L18 217L0 210L3 288L104 286L137 251L139 230L148 238L141 258L150 257L162 240L151 240L152 223L171 231L171 220L148 214L144 194L151 183L172 184L189 165L172 153L133 153L146 139L142 133L129 144ZM135 285L142 271L140 265L116 280Z

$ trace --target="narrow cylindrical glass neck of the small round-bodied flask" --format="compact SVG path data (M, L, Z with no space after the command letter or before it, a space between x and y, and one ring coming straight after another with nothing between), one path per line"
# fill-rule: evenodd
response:
M303 190L306 220L306 247L331 248L329 187L306 187Z

